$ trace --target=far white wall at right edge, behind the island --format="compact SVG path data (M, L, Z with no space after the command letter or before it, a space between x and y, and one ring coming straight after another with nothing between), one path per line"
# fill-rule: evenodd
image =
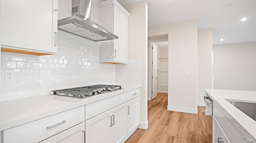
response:
M256 90L256 42L213 45L212 49L214 88Z

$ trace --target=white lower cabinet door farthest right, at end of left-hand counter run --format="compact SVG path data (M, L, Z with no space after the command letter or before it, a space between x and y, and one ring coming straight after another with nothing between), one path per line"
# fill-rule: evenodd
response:
M140 96L127 102L127 135L130 136L140 124Z

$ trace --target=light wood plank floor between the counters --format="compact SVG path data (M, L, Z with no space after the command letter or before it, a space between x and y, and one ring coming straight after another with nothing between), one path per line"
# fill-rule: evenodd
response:
M125 143L212 143L212 117L167 111L167 93L148 101L148 129L137 129Z

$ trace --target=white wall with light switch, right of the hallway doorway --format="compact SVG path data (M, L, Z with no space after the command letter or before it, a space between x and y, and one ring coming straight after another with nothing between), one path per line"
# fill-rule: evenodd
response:
M149 27L148 35L168 34L168 110L197 113L196 20ZM191 76L184 76L190 71Z

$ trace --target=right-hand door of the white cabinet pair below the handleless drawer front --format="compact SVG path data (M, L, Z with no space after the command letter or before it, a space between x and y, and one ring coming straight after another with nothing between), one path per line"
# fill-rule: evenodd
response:
M113 109L111 143L120 143L126 137L126 106L122 104Z

